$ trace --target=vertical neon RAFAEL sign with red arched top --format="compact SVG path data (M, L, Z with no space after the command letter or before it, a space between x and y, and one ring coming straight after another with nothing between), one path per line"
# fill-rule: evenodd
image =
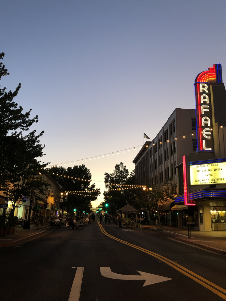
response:
M195 79L197 151L214 151L212 122L212 85L222 83L221 64L214 64Z

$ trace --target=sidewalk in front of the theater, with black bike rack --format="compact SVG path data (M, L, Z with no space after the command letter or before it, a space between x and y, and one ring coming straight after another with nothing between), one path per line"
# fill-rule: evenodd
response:
M144 225L145 230L156 229L156 226ZM158 227L159 231L173 235L173 240L191 244L203 249L226 255L226 231L196 231L191 230L191 238L187 238L187 229L170 226Z

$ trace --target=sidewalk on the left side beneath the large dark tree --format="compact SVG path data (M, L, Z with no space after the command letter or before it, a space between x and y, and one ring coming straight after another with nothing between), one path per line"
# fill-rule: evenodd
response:
M43 234L44 232L46 232L46 228L49 228L49 225L33 227L33 224L31 224L30 229L17 227L14 233L6 234L6 236L0 236L0 247L12 246L14 244L20 243L20 241L23 242L23 240L30 237Z

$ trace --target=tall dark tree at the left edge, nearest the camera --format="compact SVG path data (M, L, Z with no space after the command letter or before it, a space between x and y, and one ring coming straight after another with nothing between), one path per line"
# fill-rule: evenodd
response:
M2 52L0 59L4 55ZM8 70L1 62L0 79L8 75ZM0 88L0 191L12 202L12 213L22 197L43 194L44 186L49 185L40 176L48 163L37 160L44 156L45 145L39 144L44 131L36 135L36 130L33 130L24 135L24 132L30 131L33 123L38 122L38 116L30 119L31 109L24 114L23 108L13 101L20 86L14 92Z

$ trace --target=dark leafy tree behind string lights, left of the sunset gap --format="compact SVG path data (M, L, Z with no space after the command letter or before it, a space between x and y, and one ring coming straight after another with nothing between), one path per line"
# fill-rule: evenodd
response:
M76 209L78 214L90 211L89 205L100 195L100 189L95 188L95 183L90 184L92 176L84 164L75 165L73 168L70 166L67 169L62 166L54 166L48 172L59 181L63 191L74 191L74 193L68 194L68 206Z

